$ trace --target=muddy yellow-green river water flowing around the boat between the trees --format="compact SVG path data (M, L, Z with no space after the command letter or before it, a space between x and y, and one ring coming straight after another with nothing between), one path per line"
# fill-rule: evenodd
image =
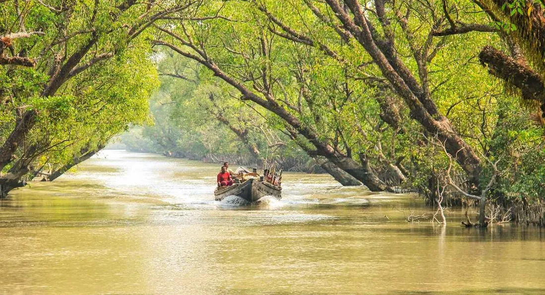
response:
M408 224L433 210L326 175L286 174L281 201L216 202L218 170L106 150L15 191L0 201L0 293L545 293L539 228L467 229L459 210Z

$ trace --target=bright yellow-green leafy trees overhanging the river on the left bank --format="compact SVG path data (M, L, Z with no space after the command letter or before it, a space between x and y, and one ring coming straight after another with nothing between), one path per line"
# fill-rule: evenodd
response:
M168 3L2 1L0 194L146 121L158 86L146 29L181 11Z

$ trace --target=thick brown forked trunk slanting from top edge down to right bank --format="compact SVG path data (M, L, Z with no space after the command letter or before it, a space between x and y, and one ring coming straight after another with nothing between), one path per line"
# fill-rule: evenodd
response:
M449 119L438 112L437 105L429 98L429 93L418 85L414 75L397 57L393 44L373 37L374 30L370 27L360 2L344 1L353 15L349 15L335 0L326 0L326 3L335 12L335 16L343 23L343 26L369 53L399 97L405 101L411 118L444 143L446 152L456 159L458 165L468 174L469 180L478 186L481 159L475 154L474 149L457 134ZM419 71L421 70L425 70L425 67L419 67ZM427 75L427 73L421 74Z

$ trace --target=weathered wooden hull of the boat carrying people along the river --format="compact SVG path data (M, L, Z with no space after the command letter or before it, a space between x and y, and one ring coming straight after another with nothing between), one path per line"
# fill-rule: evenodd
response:
M227 196L235 195L244 198L248 202L255 202L264 196L274 196L280 199L282 198L281 192L282 188L280 186L259 181L258 178L250 178L242 183L216 188L214 195L216 196L216 201L221 201Z

